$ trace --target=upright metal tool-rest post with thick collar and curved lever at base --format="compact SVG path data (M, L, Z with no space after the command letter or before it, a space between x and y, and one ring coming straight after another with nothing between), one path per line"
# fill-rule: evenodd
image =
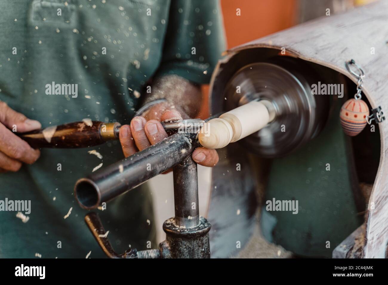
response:
M166 240L159 244L158 249L141 251L128 249L118 254L106 237L98 215L90 212L85 216L85 222L108 257L210 258L209 231L211 225L204 217L199 216L197 164L191 157L199 143L195 133L176 134L175 137L180 137L181 140L175 140L171 147L180 149L180 152L186 153L187 157L179 163L180 159L177 156L177 162L173 167L175 217L163 223ZM156 169L161 168L164 163L163 160L159 159L159 161L161 162L153 166Z

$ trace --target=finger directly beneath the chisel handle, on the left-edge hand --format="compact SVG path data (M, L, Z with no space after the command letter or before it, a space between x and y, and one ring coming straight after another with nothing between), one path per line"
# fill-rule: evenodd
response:
M28 143L0 124L0 152L17 161L34 163L40 156L40 151L31 148Z

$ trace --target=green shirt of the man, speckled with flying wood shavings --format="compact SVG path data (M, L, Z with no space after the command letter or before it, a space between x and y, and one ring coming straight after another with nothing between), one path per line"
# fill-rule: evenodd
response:
M208 83L224 48L217 1L12 0L0 1L0 11L0 100L43 127L85 118L129 123L149 79L177 74ZM78 93L50 95L53 82ZM0 257L104 257L73 188L100 163L120 159L117 141L42 149L35 164L0 174L0 200L31 201L27 221L0 211ZM162 225L154 225L144 187L97 211L117 252L158 246L154 227Z

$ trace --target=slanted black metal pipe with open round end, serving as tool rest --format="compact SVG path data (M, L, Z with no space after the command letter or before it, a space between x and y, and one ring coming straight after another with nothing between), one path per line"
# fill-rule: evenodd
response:
M118 195L183 162L200 144L196 133L176 133L76 182L74 194L84 209L95 209Z

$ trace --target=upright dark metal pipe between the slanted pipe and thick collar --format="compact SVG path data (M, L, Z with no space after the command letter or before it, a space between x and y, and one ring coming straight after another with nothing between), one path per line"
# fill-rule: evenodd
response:
M173 168L175 223L192 228L199 225L197 164L191 155Z

